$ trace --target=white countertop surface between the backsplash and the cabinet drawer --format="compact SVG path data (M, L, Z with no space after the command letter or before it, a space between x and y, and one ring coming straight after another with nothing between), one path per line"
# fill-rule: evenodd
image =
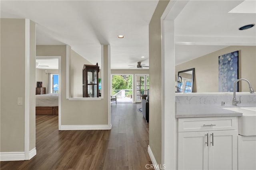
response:
M211 104L194 104L194 105L177 105L176 118L186 117L224 117L224 116L242 116L242 113L223 109L224 107L241 107L241 106L220 106ZM249 106L243 106L249 107Z

